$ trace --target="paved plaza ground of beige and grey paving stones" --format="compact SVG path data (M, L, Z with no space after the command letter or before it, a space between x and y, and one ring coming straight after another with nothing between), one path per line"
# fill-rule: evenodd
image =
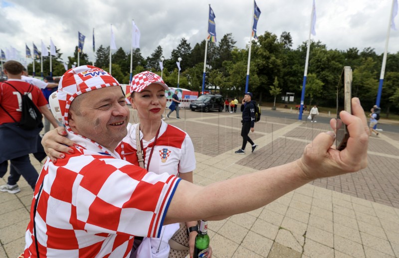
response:
M175 116L165 121L193 139L199 185L291 162L319 132L329 130L323 123L262 115L249 134L258 149L250 153L248 144L247 153L237 155L240 112L181 110L182 119ZM368 160L360 172L318 179L255 211L210 221L213 257L399 258L399 133L371 136ZM0 192L0 258L16 258L24 247L32 190L22 178L18 185L17 194Z

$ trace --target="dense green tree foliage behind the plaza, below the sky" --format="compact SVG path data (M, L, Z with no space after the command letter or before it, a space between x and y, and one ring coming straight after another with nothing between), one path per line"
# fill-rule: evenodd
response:
M257 41L248 42L243 49L235 46L232 33L220 37L218 42L207 42L206 69L203 74L205 40L195 43L193 47L187 38L182 38L171 53L164 53L162 46L157 46L148 57L143 57L140 49L134 49L132 57L133 74L151 70L161 74L159 61L164 56L163 78L171 87L177 86L178 70L176 62L181 57L181 88L201 91L204 79L205 90L216 91L225 97L242 96L245 91L248 67L249 43L251 60L249 69L248 90L259 102L273 101L270 92L276 78L281 93L295 94L295 104L300 103L307 42L293 46L290 32L283 31L280 36L269 31L259 35ZM53 76L64 72L63 62L68 61L68 68L77 61L77 47L73 56L64 57L59 49L52 57ZM109 68L109 46L99 46L95 54L95 66ZM121 83L129 83L130 49L119 48L112 53L112 74ZM347 50L329 49L321 41L311 41L309 66L306 82L305 103L315 102L318 105L333 107L336 103L336 91L344 66L353 70L353 96L359 97L364 107L369 109L376 103L383 55L367 47L363 50L356 47ZM91 64L87 55L80 54L80 64ZM114 68L115 66L115 68ZM28 72L32 74L32 63ZM43 58L43 75L49 74L49 57ZM35 62L36 75L40 75L40 60ZM203 76L204 75L204 76ZM388 53L385 79L382 91L381 108L383 112L399 113L399 52ZM281 100L279 100L281 101Z

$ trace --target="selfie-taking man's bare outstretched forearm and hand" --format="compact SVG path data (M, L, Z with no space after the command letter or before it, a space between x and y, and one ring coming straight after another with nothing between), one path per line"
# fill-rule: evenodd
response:
M335 134L318 134L291 163L216 182L205 187L181 181L170 203L165 224L187 220L221 220L260 208L282 195L321 177L356 172L367 166L369 134L358 98L352 99L353 115L342 111L350 137L347 147L332 147ZM330 121L335 129L335 120Z

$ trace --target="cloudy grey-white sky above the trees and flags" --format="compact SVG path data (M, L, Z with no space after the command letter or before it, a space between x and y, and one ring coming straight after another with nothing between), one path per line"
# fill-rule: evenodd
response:
M10 46L25 53L25 43L32 41L40 51L40 40L46 45L50 37L63 53L73 54L78 31L86 36L83 51L90 59L92 30L96 48L110 44L110 24L116 46L130 51L132 19L141 31L140 49L144 57L160 45L165 58L182 37L192 47L207 35L208 4L216 18L220 39L232 33L236 46L244 48L251 32L252 0L0 0L0 48ZM296 48L309 35L312 0L257 0L261 10L258 34L270 31L278 36L291 33ZM392 0L316 0L316 36L329 49L374 48L382 54L385 48ZM399 16L395 18L399 28ZM388 51L399 51L399 30L391 30ZM182 61L182 65L184 61Z

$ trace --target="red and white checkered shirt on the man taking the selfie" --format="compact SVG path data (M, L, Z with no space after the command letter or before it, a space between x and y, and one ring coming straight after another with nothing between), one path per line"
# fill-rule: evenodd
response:
M134 236L160 237L180 181L157 175L68 132L80 146L45 162L34 190L24 257L36 257L33 207L40 257L129 257ZM83 148L82 146L85 146Z

